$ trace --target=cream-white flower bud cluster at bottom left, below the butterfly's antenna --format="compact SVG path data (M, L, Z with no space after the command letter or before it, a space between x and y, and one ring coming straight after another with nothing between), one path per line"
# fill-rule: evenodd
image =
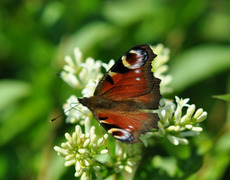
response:
M72 136L65 133L67 142L62 143L61 147L55 146L54 150L58 155L65 158L65 166L75 165L75 176L81 179L92 179L92 172L101 179L100 164L96 160L99 154L108 153L107 149L102 149L108 135L99 138L95 134L95 127L92 126L89 133L84 134L79 125L76 126Z

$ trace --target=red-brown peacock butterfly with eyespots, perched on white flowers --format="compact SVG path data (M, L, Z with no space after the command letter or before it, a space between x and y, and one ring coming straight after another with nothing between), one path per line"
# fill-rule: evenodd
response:
M141 134L157 127L161 80L153 76L150 45L127 51L99 81L92 97L78 98L115 139L139 142Z

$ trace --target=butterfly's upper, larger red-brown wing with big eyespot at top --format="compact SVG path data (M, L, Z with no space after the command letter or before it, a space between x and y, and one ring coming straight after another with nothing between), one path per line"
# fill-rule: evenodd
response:
M104 75L94 96L116 101L132 99L146 104L146 108L156 109L161 96L160 80L151 71L155 57L149 45L133 47Z

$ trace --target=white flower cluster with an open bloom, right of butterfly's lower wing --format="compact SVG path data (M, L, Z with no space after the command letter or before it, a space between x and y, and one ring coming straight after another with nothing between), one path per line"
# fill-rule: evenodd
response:
M176 104L170 100L162 99L159 107L158 133L166 136L174 145L188 144L185 137L197 136L203 130L199 123L207 118L207 112L202 108L196 111L194 104L189 105L187 99L175 97ZM183 115L183 108L187 108Z

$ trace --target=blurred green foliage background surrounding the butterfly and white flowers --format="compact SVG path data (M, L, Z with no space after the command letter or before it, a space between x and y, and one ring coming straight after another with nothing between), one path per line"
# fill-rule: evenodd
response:
M186 161L179 168L188 179L228 179L230 108L213 98L230 92L228 0L1 0L0 179L73 179L74 167L53 150L73 125L49 120L75 92L55 72L74 47L108 62L143 43L171 51L167 97L189 97L208 112L190 155L168 144L162 156ZM145 164L136 178L176 178L165 169Z

